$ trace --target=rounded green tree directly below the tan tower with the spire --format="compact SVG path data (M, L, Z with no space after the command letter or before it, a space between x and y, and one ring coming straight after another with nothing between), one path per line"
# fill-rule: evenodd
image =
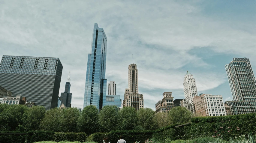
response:
M134 107L123 107L118 111L118 130L133 130L137 125L137 114Z

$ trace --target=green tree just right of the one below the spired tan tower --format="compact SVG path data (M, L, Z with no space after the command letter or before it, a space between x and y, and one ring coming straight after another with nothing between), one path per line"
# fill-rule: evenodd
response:
M155 130L157 122L155 120L155 111L151 108L140 108L137 111L138 125L145 130Z

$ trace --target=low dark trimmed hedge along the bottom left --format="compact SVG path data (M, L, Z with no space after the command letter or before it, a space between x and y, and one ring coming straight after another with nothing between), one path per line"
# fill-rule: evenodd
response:
M45 131L29 131L29 132L0 132L0 133L18 133L18 134L0 134L0 142L5 143L33 143L41 141L79 141L85 142L87 135L85 133L55 133ZM21 135L20 133L26 133Z

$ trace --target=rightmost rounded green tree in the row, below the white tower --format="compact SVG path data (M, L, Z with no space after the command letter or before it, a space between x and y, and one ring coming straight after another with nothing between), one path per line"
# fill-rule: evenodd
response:
M186 123L191 119L191 112L186 107L177 106L169 111L168 117L170 124Z

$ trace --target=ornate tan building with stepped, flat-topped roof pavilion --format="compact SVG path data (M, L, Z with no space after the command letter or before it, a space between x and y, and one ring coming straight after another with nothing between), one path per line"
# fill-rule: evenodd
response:
M155 104L155 113L167 113L174 107L172 92L164 92L163 96L164 98Z

